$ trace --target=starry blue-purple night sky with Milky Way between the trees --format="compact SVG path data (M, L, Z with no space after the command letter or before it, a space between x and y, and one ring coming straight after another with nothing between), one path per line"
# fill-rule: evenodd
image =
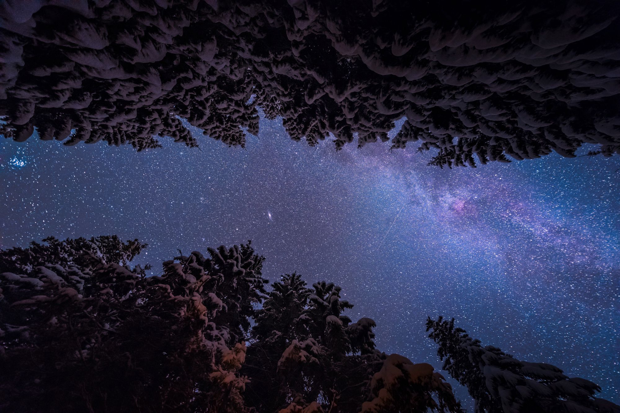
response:
M440 367L425 318L455 317L483 344L620 403L618 159L441 170L415 145L336 152L290 142L280 119L260 128L246 149L2 140L0 247L118 234L147 242L138 262L159 268L177 249L252 239L266 278L342 286L387 353Z

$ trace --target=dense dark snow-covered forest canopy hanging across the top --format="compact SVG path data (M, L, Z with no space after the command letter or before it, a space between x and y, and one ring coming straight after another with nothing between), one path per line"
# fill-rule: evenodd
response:
M227 145L259 111L293 140L389 140L476 166L620 151L608 0L0 3L0 133L138 150Z

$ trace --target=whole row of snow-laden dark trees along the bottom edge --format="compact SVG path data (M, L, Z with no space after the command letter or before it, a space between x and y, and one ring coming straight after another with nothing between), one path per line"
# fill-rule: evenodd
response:
M146 244L53 237L0 250L3 412L464 412L432 365L385 354L339 286L266 288L252 244L130 266ZM476 413L620 413L601 388L427 320Z

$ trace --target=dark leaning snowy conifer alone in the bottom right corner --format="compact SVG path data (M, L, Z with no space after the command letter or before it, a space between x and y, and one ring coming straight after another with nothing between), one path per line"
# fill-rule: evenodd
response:
M476 401L476 413L619 413L620 406L596 398L600 386L567 377L546 363L525 362L497 347L482 347L450 321L427 320L429 337L439 344L443 369Z

